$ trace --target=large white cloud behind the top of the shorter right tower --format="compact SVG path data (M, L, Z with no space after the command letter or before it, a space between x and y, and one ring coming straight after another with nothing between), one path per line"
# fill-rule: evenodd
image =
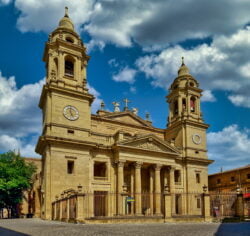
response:
M152 79L154 86L168 88L177 76L180 58L185 56L185 64L191 74L207 90L230 91L229 99L234 104L249 103L249 49L250 27L238 30L225 37L217 36L211 45L202 44L191 49L179 45L167 48L160 53L151 53L136 61L139 71ZM243 65L243 66L242 66ZM211 93L211 92L210 92ZM209 92L205 96L213 99ZM243 97L244 98L243 98Z

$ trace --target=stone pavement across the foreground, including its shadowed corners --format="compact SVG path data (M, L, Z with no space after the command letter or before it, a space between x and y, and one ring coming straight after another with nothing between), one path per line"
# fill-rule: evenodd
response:
M0 220L1 236L25 235L147 235L147 236L249 236L250 223L70 224L40 219Z

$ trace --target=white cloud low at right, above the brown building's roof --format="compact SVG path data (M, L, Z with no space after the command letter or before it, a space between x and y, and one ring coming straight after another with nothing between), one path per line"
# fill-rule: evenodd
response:
M207 143L209 158L215 160L217 167L232 169L249 164L250 130L230 125L221 131L208 133ZM219 171L214 166L211 165L212 172Z

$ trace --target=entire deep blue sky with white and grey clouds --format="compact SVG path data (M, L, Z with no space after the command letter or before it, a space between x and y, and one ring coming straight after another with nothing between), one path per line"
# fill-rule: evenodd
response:
M42 55L65 6L91 56L93 113L128 98L165 128L184 56L204 90L209 173L250 164L249 0L0 0L0 152L39 157Z

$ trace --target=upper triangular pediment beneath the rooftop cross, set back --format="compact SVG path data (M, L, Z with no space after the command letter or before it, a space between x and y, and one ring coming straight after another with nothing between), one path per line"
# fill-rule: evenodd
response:
M104 115L103 117L106 119L119 121L126 124L152 127L149 122L143 120L142 118L133 114L130 111L113 112L111 114Z

